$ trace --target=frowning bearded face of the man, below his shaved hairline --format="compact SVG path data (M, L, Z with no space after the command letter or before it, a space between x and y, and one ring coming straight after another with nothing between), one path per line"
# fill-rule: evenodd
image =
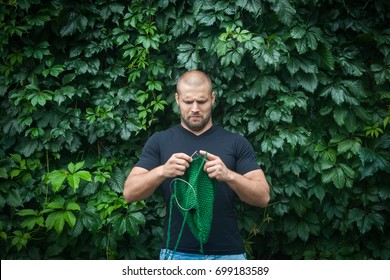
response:
M215 93L207 83L199 86L181 85L180 93L176 93L182 124L194 132L203 132L211 127L211 109L215 101Z

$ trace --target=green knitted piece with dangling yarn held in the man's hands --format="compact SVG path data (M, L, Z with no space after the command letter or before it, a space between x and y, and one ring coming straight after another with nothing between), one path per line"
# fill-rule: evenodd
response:
M169 209L167 248L171 235L170 227L173 203L176 204L180 213L183 215L183 224L174 251L176 251L179 245L185 223L187 223L192 234L199 241L200 253L203 254L203 245L209 238L213 220L217 180L210 179L208 174L203 170L206 156L194 158L185 174L172 181L173 189L171 190L172 196Z

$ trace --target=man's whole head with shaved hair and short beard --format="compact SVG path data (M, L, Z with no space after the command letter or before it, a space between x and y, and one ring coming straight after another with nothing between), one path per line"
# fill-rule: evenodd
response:
M201 134L211 127L215 93L206 73L191 70L180 76L175 98L180 109L181 123L185 128Z

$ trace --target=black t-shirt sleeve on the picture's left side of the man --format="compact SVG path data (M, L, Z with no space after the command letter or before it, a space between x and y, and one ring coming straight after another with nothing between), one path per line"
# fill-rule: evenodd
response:
M141 157L135 166L152 170L161 165L159 132L153 134L142 148Z

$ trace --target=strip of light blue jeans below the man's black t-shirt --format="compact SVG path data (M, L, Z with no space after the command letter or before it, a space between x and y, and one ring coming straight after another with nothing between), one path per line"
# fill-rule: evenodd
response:
M161 249L160 260L246 260L246 253L237 255L201 255Z

